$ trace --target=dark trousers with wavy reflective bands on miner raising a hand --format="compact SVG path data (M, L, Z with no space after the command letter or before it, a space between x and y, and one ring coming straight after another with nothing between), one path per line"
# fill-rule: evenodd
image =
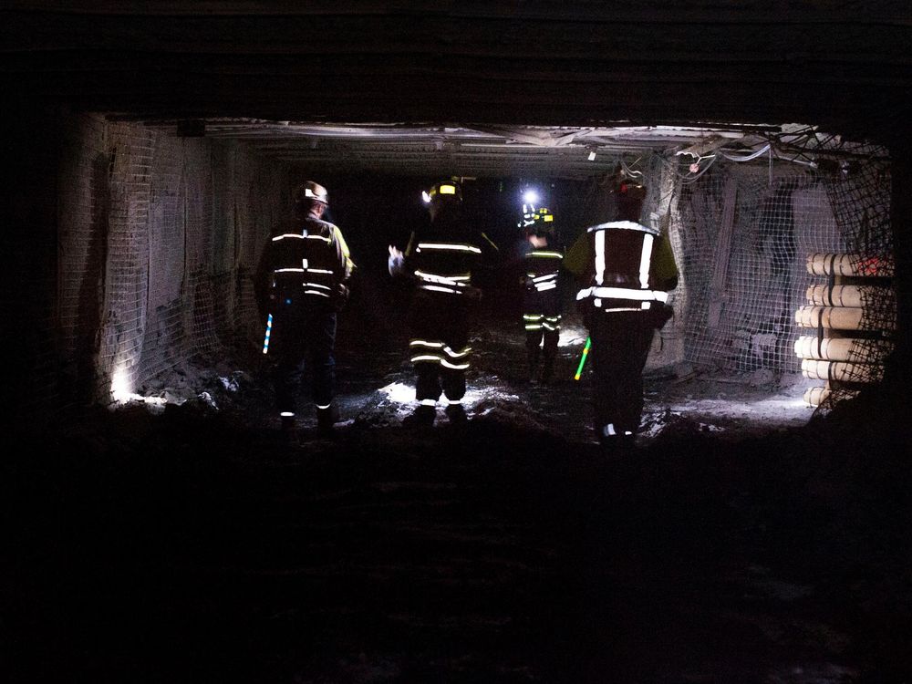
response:
M409 350L418 376L415 398L419 401L437 401L441 392L451 402L465 396L463 367L469 365L469 354L462 352L469 345L473 310L467 300L466 295L420 291L412 301Z

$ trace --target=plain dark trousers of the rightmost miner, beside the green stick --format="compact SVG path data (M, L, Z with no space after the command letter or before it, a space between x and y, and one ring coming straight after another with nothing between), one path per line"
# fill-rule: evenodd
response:
M643 412L643 368L655 333L647 312L595 310L587 316L595 375L596 432L636 434ZM606 427L611 426L606 432Z

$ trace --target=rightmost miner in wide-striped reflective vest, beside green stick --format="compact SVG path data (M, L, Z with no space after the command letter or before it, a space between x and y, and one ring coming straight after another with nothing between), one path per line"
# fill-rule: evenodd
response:
M672 314L678 268L668 236L637 223L645 188L621 180L617 221L586 229L565 259L583 282L576 294L589 329L596 433L608 447L630 446L643 410L643 368L655 331Z

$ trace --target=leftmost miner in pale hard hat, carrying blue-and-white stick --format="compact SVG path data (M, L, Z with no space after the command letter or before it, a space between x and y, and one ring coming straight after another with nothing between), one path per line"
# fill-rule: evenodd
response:
M294 434L306 364L312 374L317 431L339 418L335 390L336 316L348 298L355 264L337 225L322 220L329 199L314 181L295 187L294 212L264 251L258 285L267 313L263 353L271 373L282 430Z

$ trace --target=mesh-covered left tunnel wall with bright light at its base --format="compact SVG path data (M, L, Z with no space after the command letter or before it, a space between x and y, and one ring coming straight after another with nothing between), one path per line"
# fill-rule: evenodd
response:
M251 275L290 171L236 144L94 115L53 127L45 163L20 179L33 235L15 249L49 284L30 295L40 315L28 322L20 408L108 403L194 355L251 346Z

